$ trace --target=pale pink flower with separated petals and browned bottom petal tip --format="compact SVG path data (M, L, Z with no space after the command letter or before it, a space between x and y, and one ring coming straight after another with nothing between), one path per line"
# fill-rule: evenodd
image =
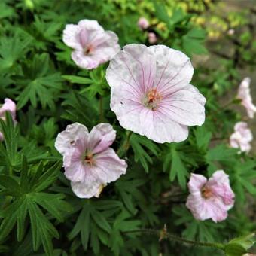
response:
M66 178L78 197L99 197L106 184L126 172L125 160L109 148L115 136L108 123L99 123L90 133L81 123L73 123L58 134L55 147L63 156Z

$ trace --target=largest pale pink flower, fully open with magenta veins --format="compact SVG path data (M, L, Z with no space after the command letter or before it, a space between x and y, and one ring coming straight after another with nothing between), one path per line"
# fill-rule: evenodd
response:
M164 45L128 44L108 66L111 110L120 125L155 142L182 142L202 125L206 99L189 84L190 59Z

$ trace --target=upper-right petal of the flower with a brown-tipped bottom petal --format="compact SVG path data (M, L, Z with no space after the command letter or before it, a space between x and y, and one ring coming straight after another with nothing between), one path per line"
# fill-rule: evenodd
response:
M108 148L115 140L116 131L109 123L99 123L90 131L87 148L97 154Z

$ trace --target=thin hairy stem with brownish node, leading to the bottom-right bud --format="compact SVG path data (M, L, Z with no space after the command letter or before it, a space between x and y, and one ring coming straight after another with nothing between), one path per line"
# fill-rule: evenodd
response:
M186 243L190 245L199 245L205 247L218 248L220 250L224 250L225 245L218 242L197 242L193 240L183 239L179 236L175 236L163 230L153 230L153 229L141 229L141 230L130 230L123 233L146 233L148 235L156 235L161 239L168 239L169 241L176 241L181 243Z

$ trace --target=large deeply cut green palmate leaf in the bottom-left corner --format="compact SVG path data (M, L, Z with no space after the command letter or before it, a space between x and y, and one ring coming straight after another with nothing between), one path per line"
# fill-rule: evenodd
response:
M70 206L66 203L63 194L48 194L42 192L56 180L61 163L57 162L46 171L44 166L39 164L35 173L29 169L26 158L23 157L20 183L14 178L2 175L0 194L14 196L11 204L0 210L3 218L0 225L0 241L13 230L17 223L17 239L21 241L26 231L26 218L29 217L32 230L32 243L34 251L37 251L42 244L47 255L52 255L53 237L58 238L59 233L53 224L48 220L42 209L58 221L63 221L63 213L69 212Z

